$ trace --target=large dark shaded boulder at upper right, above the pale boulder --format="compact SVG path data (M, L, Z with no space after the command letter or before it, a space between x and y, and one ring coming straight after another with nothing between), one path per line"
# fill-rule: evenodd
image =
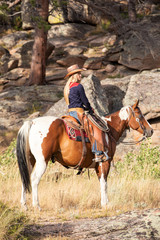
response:
M146 70L160 67L160 16L152 16L140 23L129 25L120 32L115 47L107 52L106 59L132 69Z

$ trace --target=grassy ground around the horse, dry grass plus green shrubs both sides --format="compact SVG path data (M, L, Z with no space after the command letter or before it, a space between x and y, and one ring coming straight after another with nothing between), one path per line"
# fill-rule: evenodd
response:
M15 142L0 156L0 200L20 209L21 180L14 147ZM74 170L50 163L39 185L42 211L33 211L31 195L27 194L29 210L26 216L38 222L41 219L64 221L160 207L160 149L149 143L142 145L138 154L128 154L123 162L117 162L115 168L111 168L106 209L100 206L97 176L93 170L89 175L90 178L86 171L77 176ZM5 226L1 228L5 229Z

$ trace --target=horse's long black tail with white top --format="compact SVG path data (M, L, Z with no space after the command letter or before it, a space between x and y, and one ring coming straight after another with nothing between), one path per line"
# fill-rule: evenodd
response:
M31 182L29 173L29 130L32 121L26 121L20 128L17 136L16 154L19 171L23 187L26 191L31 192Z

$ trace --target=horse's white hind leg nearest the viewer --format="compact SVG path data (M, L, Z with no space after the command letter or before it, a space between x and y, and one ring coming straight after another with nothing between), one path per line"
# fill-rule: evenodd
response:
M38 200L38 184L46 170L46 167L47 167L47 163L45 162L44 157L41 156L41 158L38 159L38 162L36 162L35 169L31 176L32 205L33 207L37 207L39 210L41 210L41 208L39 206L39 200Z

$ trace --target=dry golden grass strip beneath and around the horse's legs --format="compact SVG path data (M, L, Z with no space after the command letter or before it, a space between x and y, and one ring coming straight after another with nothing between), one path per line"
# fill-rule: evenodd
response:
M3 167L0 174L0 199L10 206L20 207L21 181L17 163L10 168ZM62 176L55 181L55 172ZM133 209L160 207L160 182L158 179L133 179L123 177L111 169L108 178L109 203L106 209L100 206L100 186L96 174L90 171L76 176L73 170L66 170L58 164L49 164L39 185L39 199L42 211L33 211L31 195L27 194L27 214L37 219L68 220L83 217L112 216Z

